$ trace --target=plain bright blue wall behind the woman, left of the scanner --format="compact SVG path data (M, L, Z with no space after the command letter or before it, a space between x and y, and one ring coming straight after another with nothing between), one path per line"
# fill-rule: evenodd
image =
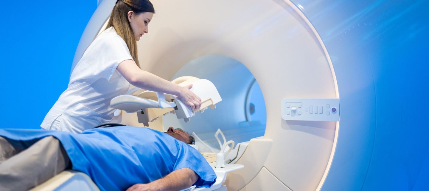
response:
M0 128L39 129L66 89L97 1L2 1Z

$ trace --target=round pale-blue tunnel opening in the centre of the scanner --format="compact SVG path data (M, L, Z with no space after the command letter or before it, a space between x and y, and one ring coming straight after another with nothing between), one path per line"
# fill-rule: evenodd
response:
M221 129L227 140L248 142L263 136L266 125L265 101L251 72L241 62L222 55L205 55L185 64L172 77L195 76L210 80L222 102L185 123L174 115L163 117L164 126L180 126L195 134L213 151L219 151L215 132Z

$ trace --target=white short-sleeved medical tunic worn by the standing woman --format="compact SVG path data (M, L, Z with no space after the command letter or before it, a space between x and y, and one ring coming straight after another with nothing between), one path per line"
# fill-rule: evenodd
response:
M40 126L80 133L110 122L115 112L110 100L130 87L116 68L132 59L127 44L113 27L100 33L76 64L67 89Z

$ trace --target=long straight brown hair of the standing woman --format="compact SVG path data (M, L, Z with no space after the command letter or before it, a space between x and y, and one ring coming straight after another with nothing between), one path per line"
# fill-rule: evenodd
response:
M129 11L133 11L137 15L142 12L155 12L154 6L149 0L118 0L113 7L106 29L109 27L115 28L116 33L127 43L131 56L140 68L136 39L128 21Z

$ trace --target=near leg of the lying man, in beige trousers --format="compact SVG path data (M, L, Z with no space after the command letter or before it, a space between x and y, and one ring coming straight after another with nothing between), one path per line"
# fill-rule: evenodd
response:
M57 175L70 164L58 139L40 139L0 164L0 190L28 190Z

